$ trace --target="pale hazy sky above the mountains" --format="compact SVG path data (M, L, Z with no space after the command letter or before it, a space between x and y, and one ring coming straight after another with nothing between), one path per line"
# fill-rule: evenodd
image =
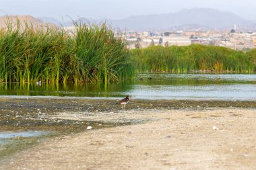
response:
M130 15L174 13L208 7L256 20L256 0L0 0L0 15L122 19Z

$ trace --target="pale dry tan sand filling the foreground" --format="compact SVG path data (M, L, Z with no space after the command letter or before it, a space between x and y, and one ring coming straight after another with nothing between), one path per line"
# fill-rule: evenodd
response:
M255 112L214 108L80 114L86 120L146 122L49 138L1 161L0 169L255 169Z

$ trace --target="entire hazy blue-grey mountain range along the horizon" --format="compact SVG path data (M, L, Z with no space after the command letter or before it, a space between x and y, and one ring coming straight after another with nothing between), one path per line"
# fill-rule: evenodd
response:
M256 21L249 21L232 12L218 11L208 8L183 9L176 13L155 15L133 15L124 19L88 19L81 17L73 21L60 22L53 17L39 17L41 22L56 26L72 26L73 22L94 23L106 22L112 28L122 30L168 30L171 28L205 28L205 29L232 29L237 28L256 30Z

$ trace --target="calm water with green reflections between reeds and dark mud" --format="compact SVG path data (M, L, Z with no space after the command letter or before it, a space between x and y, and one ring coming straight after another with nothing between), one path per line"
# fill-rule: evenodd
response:
M256 74L140 74L108 87L0 83L0 95L256 100Z

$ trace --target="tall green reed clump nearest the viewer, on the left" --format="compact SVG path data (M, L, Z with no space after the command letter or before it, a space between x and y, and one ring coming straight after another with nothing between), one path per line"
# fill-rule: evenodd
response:
M110 83L134 75L121 36L106 24L75 23L75 32L28 24L0 30L0 81Z

